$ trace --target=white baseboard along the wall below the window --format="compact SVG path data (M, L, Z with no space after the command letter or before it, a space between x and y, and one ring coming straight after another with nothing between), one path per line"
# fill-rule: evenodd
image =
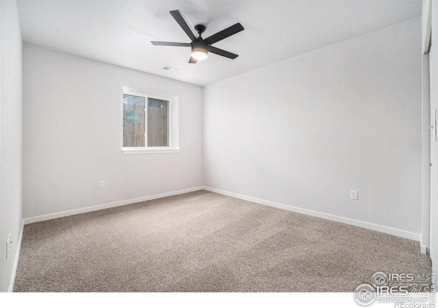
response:
M128 204L132 204L132 203L138 203L138 202L144 202L144 201L164 198L167 196L176 196L177 194L186 194L188 192L196 192L197 190L203 190L203 186L188 188L185 190L177 190L176 192L166 192L164 194L154 194L153 196L145 196L142 198L134 198L134 199L125 200L125 201L107 203L107 204L103 204L103 205L94 205L92 207L83 207L81 209L71 209L70 211L60 211L60 212L53 213L53 214L25 218L25 219L23 219L23 222L24 222L24 224L31 224L34 222L40 222L40 221L44 221L44 220L51 220L51 219L55 219L55 218L61 218L61 217L66 217L66 216L88 213L90 211L99 211L100 209L109 209L111 207L120 207L121 205L128 205Z

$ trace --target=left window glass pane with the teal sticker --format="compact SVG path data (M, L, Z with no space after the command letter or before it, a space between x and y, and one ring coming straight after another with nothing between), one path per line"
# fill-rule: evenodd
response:
M145 146L144 97L123 94L123 146Z

